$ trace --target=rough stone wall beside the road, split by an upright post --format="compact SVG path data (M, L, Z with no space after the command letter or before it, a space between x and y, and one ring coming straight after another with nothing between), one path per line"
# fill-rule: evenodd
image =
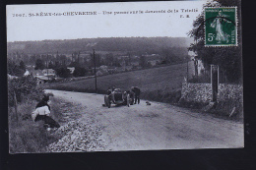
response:
M240 100L242 102L242 85L220 84L218 89L218 101L228 99ZM188 102L208 103L212 100L211 84L182 84L181 98Z

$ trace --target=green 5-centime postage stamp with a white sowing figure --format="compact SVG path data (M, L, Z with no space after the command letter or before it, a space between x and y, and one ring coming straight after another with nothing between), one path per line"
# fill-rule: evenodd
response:
M205 8L205 46L237 46L236 7Z

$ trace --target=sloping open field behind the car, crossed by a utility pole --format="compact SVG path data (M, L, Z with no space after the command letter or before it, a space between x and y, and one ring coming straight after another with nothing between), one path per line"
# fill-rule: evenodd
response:
M189 62L188 73L189 78L194 74L193 62ZM178 97L176 95L180 95L181 84L184 82L186 76L187 63L183 63L97 77L97 84L95 79L88 79L69 83L50 84L46 88L95 92L97 85L97 92L105 93L109 86L115 86L123 90L129 89L131 86L139 86L142 90L141 98L163 102L176 102L175 100Z

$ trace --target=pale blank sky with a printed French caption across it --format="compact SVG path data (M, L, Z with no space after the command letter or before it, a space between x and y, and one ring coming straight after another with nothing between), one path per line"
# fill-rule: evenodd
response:
M89 4L41 4L7 6L7 41L77 39L91 37L173 36L183 37L202 11L205 1L118 2ZM174 9L178 10L174 13ZM198 12L181 12L197 9ZM165 10L160 14L114 12ZM167 13L172 10L172 13ZM96 15L29 17L36 13L96 11ZM102 11L112 12L103 15ZM24 14L27 17L13 17ZM180 18L183 15L184 18ZM186 18L189 15L190 18Z

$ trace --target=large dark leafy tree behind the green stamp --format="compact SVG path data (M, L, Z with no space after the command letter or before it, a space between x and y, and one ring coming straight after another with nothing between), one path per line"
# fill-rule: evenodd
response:
M207 3L205 7L220 7L220 6L237 6L238 16L239 16L239 2L238 1L228 1L228 0L218 0L211 3ZM188 48L194 51L198 59L201 59L207 70L210 70L210 65L219 65L224 71L224 75L229 83L239 83L241 81L241 47L205 47L204 45L204 12L194 21L193 29L189 31L189 35L194 37L195 42ZM240 28L237 27L237 34L241 32ZM240 38L238 37L238 44L240 43Z

